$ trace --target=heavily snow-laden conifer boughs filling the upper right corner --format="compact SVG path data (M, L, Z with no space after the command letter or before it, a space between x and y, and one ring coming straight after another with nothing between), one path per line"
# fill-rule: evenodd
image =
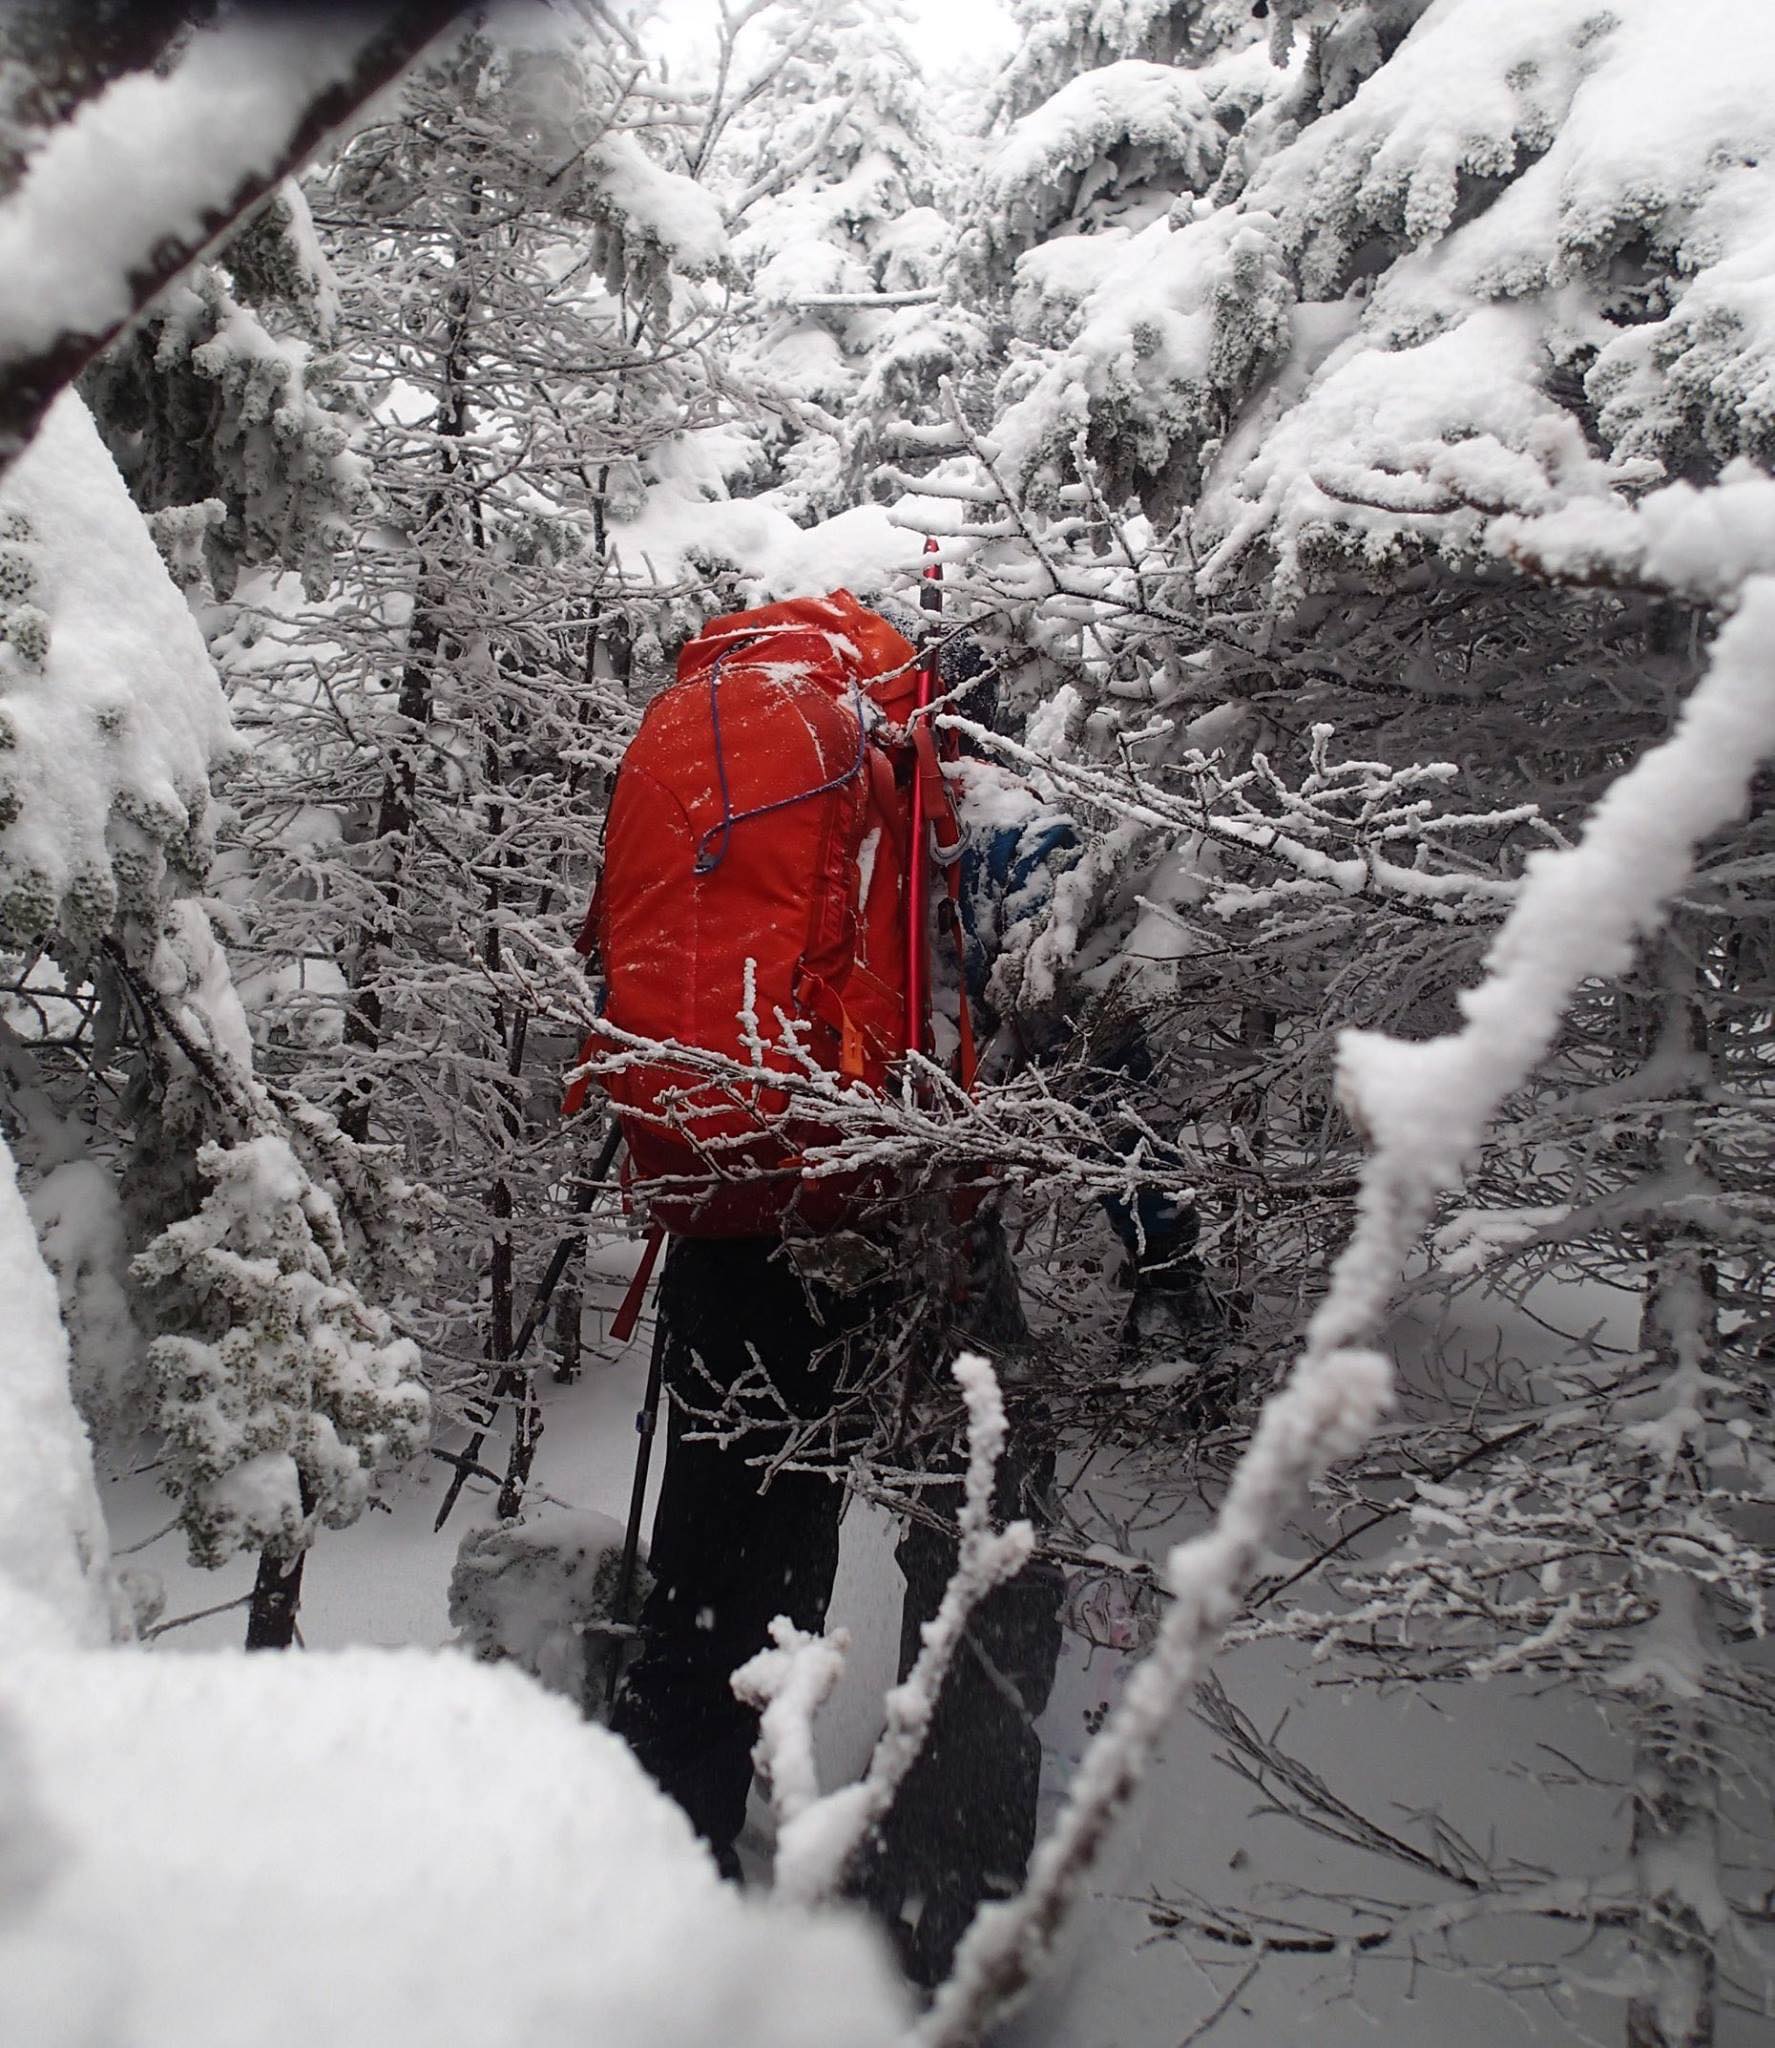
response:
M1036 299L1063 258L1089 291L1005 373L1009 479L1060 487L1083 436L1112 496L1194 500L1198 588L1255 561L1288 598L1351 559L1472 559L1501 512L1767 461L1775 23L1714 12L1697 37L1662 0L1452 0L1335 90L1325 37L1296 41L1239 123L1249 174L1110 262L1024 258Z

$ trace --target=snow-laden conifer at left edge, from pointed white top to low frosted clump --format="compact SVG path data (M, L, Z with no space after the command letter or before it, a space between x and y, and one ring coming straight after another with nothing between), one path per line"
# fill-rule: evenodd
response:
M209 1563L225 1546L201 1483L240 1487L237 1468L272 1448L266 1432L285 1448L297 1411L334 1411L350 1444L350 1456L334 1462L340 1473L350 1462L352 1483L321 1475L315 1518L299 1526L244 1516L229 1530L266 1546L283 1575L319 1520L338 1524L360 1509L383 1456L416 1448L424 1393L399 1386L395 1427L373 1425L369 1399L356 1397L352 1409L350 1389L336 1389L330 1360L350 1354L344 1337L330 1350L321 1325L381 1331L346 1270L332 1196L313 1178L342 1157L338 1135L313 1116L291 1122L254 1079L246 1018L199 901L213 829L209 772L233 743L221 692L74 393L14 465L4 506L16 602L0 674L18 778L4 831L8 1120L61 1284L74 1386L94 1427L115 1440L127 1444L143 1425L166 1432L164 1473ZM283 1128L309 1163L274 1135ZM233 1260L227 1249L211 1247L207 1260L168 1249L201 1227L213 1200L160 1241L158 1270L178 1270L182 1288L147 1305L127 1288L131 1237L139 1245L197 1208L201 1176L215 1178L217 1161L235 1157L223 1147L201 1153L213 1135L278 1149L283 1174L237 1190L225 1221L248 1237L262 1233L291 1272L328 1284L321 1307L303 1305L303 1337L287 1339L276 1386L258 1395L252 1374L235 1370L260 1360L276 1321L256 1294L258 1266L242 1245ZM215 1237L219 1245L221 1229ZM164 1335L170 1352L160 1356L182 1358L180 1346L199 1343L213 1413L248 1403L252 1430L225 1444L205 1440L190 1417L211 1409L188 1399L180 1407L166 1384L149 1382L143 1346L156 1325L203 1331L207 1341Z

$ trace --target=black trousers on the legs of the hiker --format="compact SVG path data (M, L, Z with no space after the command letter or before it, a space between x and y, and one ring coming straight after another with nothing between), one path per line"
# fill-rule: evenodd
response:
M745 1821L757 1716L733 1698L731 1673L768 1642L770 1620L825 1622L837 1571L843 1487L837 1473L778 1473L760 1491L751 1462L780 1444L782 1417L813 1417L866 1366L893 1288L835 1296L807 1286L774 1239L680 1239L665 1262L659 1315L674 1395L665 1475L653 1524L653 1593L641 1614L643 1651L612 1726L635 1749L733 1872ZM696 1440L735 1391L755 1427L731 1444ZM776 1427L770 1419L776 1415ZM999 1466L1001 1520L1028 1511L1046 1483L1015 1448ZM952 1507L954 1489L944 1501ZM899 1544L907 1581L901 1677L919 1651L956 1563L954 1538L921 1522ZM1022 1882L1036 1833L1042 1747L1036 1716L1060 1651L1060 1575L1030 1567L975 1612L929 1739L893 1812L868 1843L858 1894L884 1919L907 1972L936 1985L983 1898Z

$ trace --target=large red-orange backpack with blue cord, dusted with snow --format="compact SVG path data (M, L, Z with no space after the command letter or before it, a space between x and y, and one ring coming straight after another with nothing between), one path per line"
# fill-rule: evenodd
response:
M917 702L917 649L846 590L712 621L622 756L579 936L604 971L581 1061L606 1065L653 1223L751 1237L846 1221L874 1178L803 1174L829 1130L766 1079L710 1077L618 1036L880 1092L907 1049L911 782L958 842ZM884 731L878 727L886 725ZM917 754L917 758L915 758ZM790 1049L792 1038L800 1055ZM583 1102L586 1081L565 1110Z

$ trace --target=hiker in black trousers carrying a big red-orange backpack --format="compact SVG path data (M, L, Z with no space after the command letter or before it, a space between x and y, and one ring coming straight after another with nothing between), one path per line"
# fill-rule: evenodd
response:
M645 1647L612 1726L727 1874L739 1870L755 1739L755 1714L733 1698L729 1677L764 1647L774 1616L823 1626L839 1481L848 1452L860 1448L831 1434L841 1423L825 1423L817 1444L809 1432L878 1378L897 1346L913 1346L929 1313L927 1276L907 1274L893 1231L872 1221L891 1190L856 1178L800 1184L792 1104L768 1085L792 1071L794 1047L766 1044L760 1022L772 1010L792 1012L803 1057L876 1087L905 1044L895 1032L905 1030L897 893L907 848L891 807L907 776L897 784L872 758L870 731L878 721L903 725L915 664L909 637L843 592L715 621L684 651L678 690L655 700L624 760L588 918L614 1024L735 1055L745 1047L762 1075L751 1104L729 1079L710 1083L669 1061L639 1061L606 1081L624 1112L637 1178L653 1188L655 1221L672 1231L657 1305L669 1411L653 1591L641 1616ZM772 705L784 694L798 721L800 766L778 758L788 739L778 739L786 727ZM948 780L962 819L948 819L954 881L946 887L968 940L952 973L995 1034L985 1006L989 954L1015 924L1044 915L1054 874L1077 858L1077 836L1032 791L1009 786L1015 778L1003 770L979 764ZM970 791L985 801L970 805ZM946 791L929 801L946 803ZM972 840L962 831L970 809L981 811ZM866 858L843 856L843 846ZM833 903L850 911L841 944L833 944ZM721 946L710 938L715 905L725 920ZM850 946L856 963L841 958ZM768 1006L772 987L782 999ZM604 1047L596 1040L594 1032L588 1049L608 1051L608 1034ZM1175 1257L1181 1221L1171 1221ZM1022 1323L995 1229L991 1210L968 1227L972 1327L989 1348L987 1325L1003 1339ZM1155 1212L1146 1249L1163 1249L1165 1237ZM856 1270L835 1270L833 1253ZM962 1335L968 1321L956 1319ZM1046 1477L1007 1458L999 1511L1026 1511L1026 1495L1040 1493ZM923 1522L901 1544L905 1661L952 1559L952 1540ZM1028 1860L1040 1769L1034 1716L1058 1653L1058 1575L1032 1569L977 1614L925 1757L868 1858L862 1888L925 1982L946 1970L979 1898L1015 1888ZM958 1796L966 1829L954 1827Z

